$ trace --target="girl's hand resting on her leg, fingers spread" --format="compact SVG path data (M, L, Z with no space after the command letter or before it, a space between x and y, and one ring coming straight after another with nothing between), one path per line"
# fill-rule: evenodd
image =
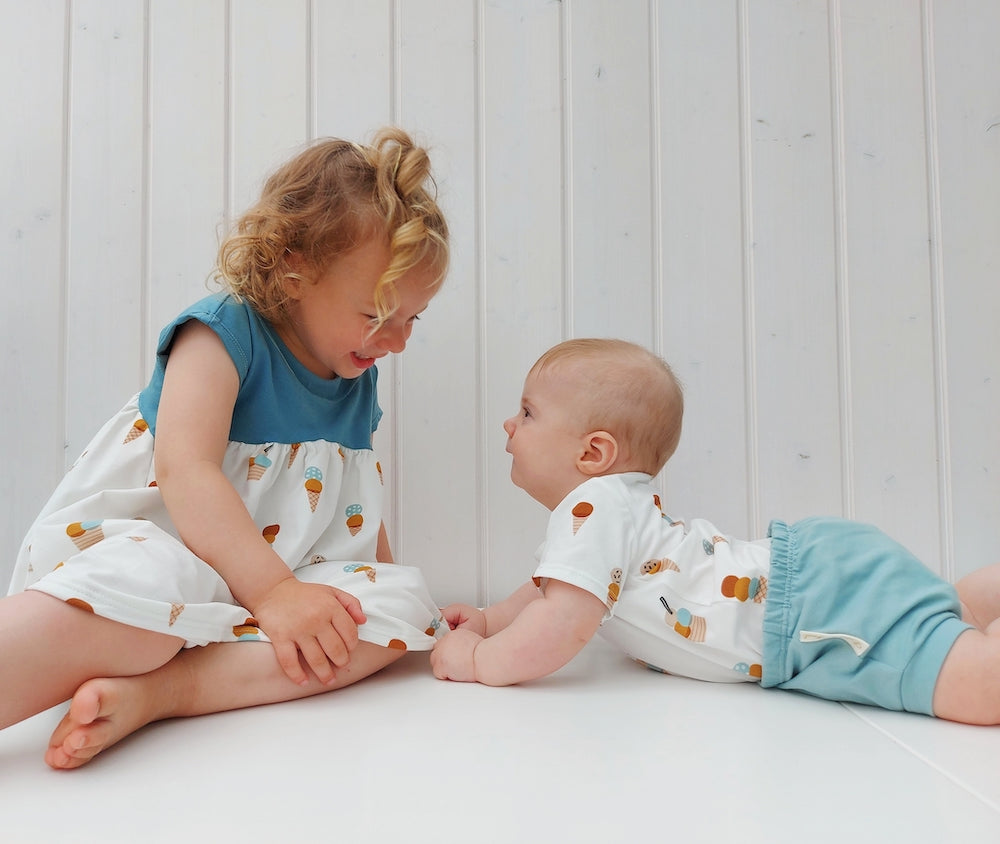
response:
M299 654L320 682L331 683L336 669L350 661L358 625L365 623L361 603L353 595L295 577L280 581L252 611L274 645L281 670L299 685L309 679Z

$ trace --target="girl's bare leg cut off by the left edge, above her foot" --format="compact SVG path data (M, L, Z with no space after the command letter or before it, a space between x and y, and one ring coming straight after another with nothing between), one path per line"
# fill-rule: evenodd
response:
M0 728L61 703L91 677L152 671L183 644L43 592L0 600Z

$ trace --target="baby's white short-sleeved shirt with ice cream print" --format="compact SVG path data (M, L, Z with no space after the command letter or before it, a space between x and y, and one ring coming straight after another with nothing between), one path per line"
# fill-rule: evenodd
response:
M761 678L770 549L663 512L649 475L592 478L552 511L535 583L553 578L606 607L600 634L660 671Z

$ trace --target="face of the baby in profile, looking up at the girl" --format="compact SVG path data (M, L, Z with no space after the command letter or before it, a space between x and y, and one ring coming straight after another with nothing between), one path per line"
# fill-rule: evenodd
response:
M511 480L550 510L585 480L576 463L586 433L574 423L579 403L558 375L529 373L520 410L503 423Z

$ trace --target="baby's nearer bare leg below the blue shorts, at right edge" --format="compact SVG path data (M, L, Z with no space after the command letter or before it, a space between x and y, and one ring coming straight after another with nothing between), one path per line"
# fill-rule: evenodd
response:
M934 714L966 724L1000 724L1000 629L966 630L934 686Z

